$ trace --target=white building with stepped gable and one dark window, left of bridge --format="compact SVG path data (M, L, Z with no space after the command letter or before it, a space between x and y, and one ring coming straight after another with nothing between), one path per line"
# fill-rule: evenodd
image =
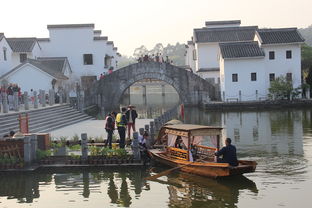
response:
M39 38L43 57L67 57L74 76L99 76L117 68L119 54L94 24L48 25L49 38Z

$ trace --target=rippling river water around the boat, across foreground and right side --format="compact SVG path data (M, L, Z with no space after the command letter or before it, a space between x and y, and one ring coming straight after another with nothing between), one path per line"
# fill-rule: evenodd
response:
M256 172L220 180L174 172L158 181L144 178L163 167L0 175L0 207L309 207L312 110L185 113L187 123L224 126Z

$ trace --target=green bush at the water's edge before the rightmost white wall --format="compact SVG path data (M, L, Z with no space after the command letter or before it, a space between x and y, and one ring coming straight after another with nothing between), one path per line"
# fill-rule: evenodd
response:
M280 76L271 82L269 88L269 97L276 100L296 98L300 95L300 87L293 88L292 82L287 81L285 77Z

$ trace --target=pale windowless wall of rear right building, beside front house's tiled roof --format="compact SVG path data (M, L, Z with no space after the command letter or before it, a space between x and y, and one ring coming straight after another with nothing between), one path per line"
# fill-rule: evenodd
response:
M219 45L218 43L198 43L197 58L198 68L219 68Z

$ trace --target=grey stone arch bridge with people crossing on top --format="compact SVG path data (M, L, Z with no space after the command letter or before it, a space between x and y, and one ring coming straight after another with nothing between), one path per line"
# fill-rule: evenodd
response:
M218 98L213 84L186 69L166 63L143 62L118 69L94 82L85 93L85 106L96 104L102 112L118 109L125 90L143 79L168 83L185 105L197 105Z

